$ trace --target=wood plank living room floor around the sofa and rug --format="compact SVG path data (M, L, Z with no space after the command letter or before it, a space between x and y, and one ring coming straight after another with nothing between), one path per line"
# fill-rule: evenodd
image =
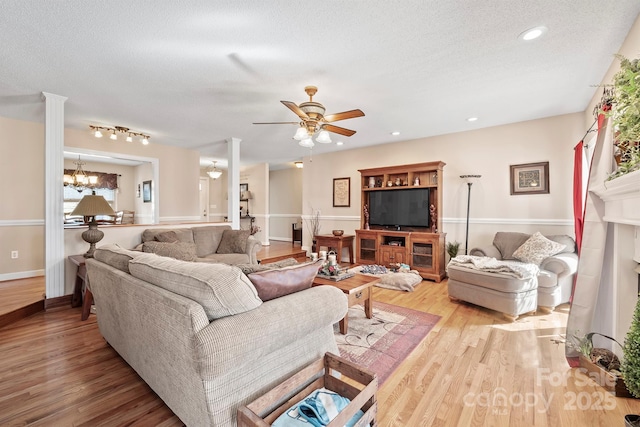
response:
M442 317L380 388L379 426L615 426L640 413L568 367L566 307L509 323L450 301L446 281L374 300ZM182 425L79 308L0 328L0 355L2 426Z

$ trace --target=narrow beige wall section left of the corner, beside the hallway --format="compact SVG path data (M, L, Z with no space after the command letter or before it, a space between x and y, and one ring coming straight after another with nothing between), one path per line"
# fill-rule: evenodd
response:
M298 168L269 174L269 238L291 241L291 224L302 221L302 175Z

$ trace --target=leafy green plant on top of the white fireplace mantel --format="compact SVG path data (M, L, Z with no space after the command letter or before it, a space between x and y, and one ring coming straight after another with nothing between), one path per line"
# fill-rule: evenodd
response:
M640 61L617 55L620 71L613 77L611 117L617 169L609 180L640 170Z

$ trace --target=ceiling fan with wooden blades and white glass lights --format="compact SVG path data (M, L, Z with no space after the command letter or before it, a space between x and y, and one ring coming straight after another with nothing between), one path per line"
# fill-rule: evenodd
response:
M302 146L313 146L311 137L318 133L316 141L321 143L329 143L331 139L327 132L337 133L339 135L351 136L356 133L355 130L346 129L340 126L332 125L331 123L339 120L353 119L356 117L364 116L361 110L349 110L342 113L324 115L324 105L319 102L313 101L313 96L318 91L315 86L306 86L304 91L309 95L309 101L302 102L300 105L296 105L291 101L280 101L285 107L293 111L298 117L300 122L269 122L269 123L254 123L254 125L272 125L272 124L294 124L300 125L294 139L300 141ZM303 143L304 142L304 143Z

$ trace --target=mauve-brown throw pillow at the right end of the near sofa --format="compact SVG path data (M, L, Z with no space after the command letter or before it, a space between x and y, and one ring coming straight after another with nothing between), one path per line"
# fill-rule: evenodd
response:
M279 298L309 289L318 273L322 260L275 270L260 271L248 275L262 301Z

